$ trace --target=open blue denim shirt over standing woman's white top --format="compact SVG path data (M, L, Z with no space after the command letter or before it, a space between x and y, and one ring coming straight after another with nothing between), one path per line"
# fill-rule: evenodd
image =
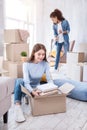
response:
M61 22L63 31L67 31L67 33L63 34L64 41L69 42L70 25L67 20L63 20ZM58 36L58 24L53 24L54 36Z

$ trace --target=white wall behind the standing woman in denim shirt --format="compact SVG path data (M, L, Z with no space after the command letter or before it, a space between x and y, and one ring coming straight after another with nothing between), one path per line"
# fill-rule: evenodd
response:
M42 41L50 49L50 41L53 38L52 22L50 13L58 8L63 12L64 17L69 21L70 41L75 40L76 44L87 43L87 0L38 0L37 4L37 29L36 40Z

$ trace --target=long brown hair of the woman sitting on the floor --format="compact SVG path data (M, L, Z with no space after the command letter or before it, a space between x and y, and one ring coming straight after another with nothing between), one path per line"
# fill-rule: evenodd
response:
M28 62L33 62L33 61L34 61L34 54L35 54L35 52L37 52L37 51L39 51L39 50L41 50L41 49L45 51L45 57L44 57L43 60L44 60L44 61L47 61L47 59L46 59L46 48L45 48L45 46L44 46L43 44L41 44L41 43L37 43L37 44L35 44L34 47L33 47L33 50L32 50L32 53L31 53L31 56L30 56Z

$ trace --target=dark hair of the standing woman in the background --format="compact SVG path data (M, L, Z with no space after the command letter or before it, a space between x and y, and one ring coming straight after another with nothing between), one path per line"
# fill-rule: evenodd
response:
M55 18L57 17L58 20L63 21L65 18L63 17L62 12L59 9L55 9L51 14L50 18Z

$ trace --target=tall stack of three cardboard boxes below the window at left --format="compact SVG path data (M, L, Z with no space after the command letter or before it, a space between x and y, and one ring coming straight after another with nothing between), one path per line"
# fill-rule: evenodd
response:
M28 37L29 33L25 30L9 29L4 31L6 60L3 61L3 68L8 70L10 77L21 78L23 76L23 63L21 62L20 53L26 51L29 56Z

